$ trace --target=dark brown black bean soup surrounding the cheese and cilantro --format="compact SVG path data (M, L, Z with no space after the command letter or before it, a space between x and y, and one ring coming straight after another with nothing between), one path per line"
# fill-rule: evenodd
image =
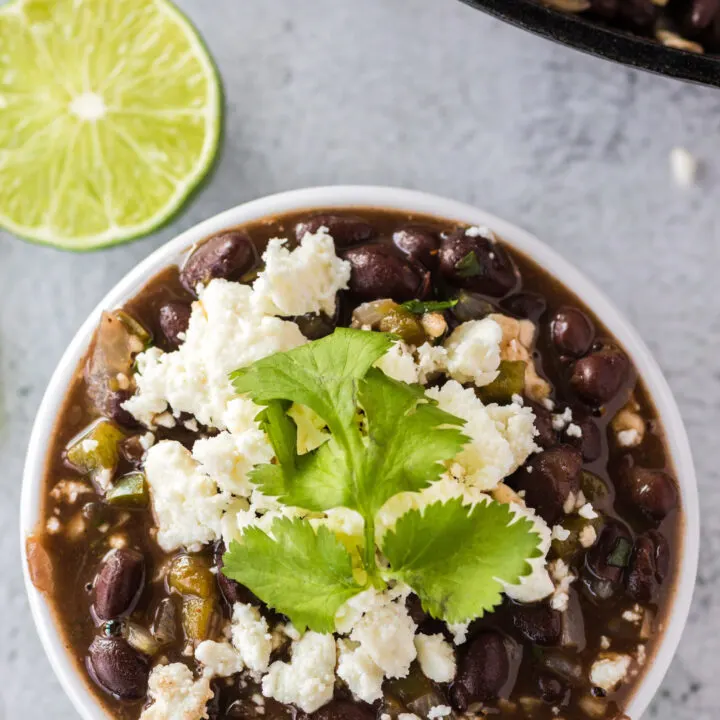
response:
M553 536L548 561L561 558L577 579L562 611L549 600L523 605L506 598L473 622L467 641L456 648L457 675L449 685L431 682L413 665L409 677L385 681L385 698L373 706L354 700L338 681L335 699L311 717L394 720L415 712L425 718L434 705L452 707L448 717L454 718L468 708L518 719L624 717L662 634L681 556L679 494L663 428L642 380L580 299L502 241L466 234L449 221L365 208L291 213L229 229L196 249L184 269L163 271L122 312L103 319L107 327L99 328L77 368L58 418L47 462L45 523L28 541L34 582L52 598L68 650L87 672L92 691L110 716L136 720L147 703L152 666L179 661L196 669L188 642L217 637L233 602L258 602L215 572L222 547L169 557L155 542L139 471L147 430L120 406L133 391L132 353L151 343L166 351L177 347L198 282L251 282L269 238L294 242L320 226L329 228L338 253L352 264L352 276L337 317L297 319L310 339L348 325L354 308L379 298L458 297L444 311L449 330L488 313L536 324L530 357L539 382L550 384L550 395L525 397L525 403L535 411L536 442L543 450L506 482L551 527L563 525L566 532ZM463 272L468 257L477 263L474 273ZM390 329L402 335L402 324ZM107 378L95 367L98 344L110 331L129 333L136 345L121 357L129 375L97 387L98 377ZM104 362L113 374L117 358ZM83 465L73 455L73 440L98 418L110 422L102 437L86 443L90 452ZM191 429L179 423L158 427L156 439L189 447L208 434L187 425ZM98 457L105 453L114 453L109 462ZM105 480L111 490L104 495L88 482L89 471L98 467L110 468ZM566 514L572 510L568 502L572 506L580 497L592 502L597 517ZM194 615L183 611L181 618L180 602L191 581L202 586L194 591L200 599ZM408 603L421 628L447 632L415 596ZM265 607L262 612L275 617ZM595 686L593 663L617 656L631 660L624 681L611 691ZM247 678L214 680L213 689L207 706L213 720L307 717L270 699L258 707L250 698L259 686Z

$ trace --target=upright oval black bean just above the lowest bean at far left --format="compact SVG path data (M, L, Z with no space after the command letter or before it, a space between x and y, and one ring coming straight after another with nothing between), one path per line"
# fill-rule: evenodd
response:
M111 550L95 576L93 610L100 620L133 611L145 583L145 558L136 550Z

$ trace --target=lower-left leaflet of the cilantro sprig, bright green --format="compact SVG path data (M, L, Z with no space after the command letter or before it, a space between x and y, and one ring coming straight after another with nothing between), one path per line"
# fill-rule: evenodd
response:
M335 613L364 590L353 576L345 546L326 527L317 533L307 520L279 518L270 535L249 527L232 542L222 572L287 615L303 632L333 632Z

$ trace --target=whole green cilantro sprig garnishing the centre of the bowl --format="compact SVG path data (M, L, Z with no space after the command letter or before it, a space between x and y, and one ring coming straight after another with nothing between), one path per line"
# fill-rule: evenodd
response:
M276 520L268 533L251 527L231 543L225 574L301 630L331 631L347 599L392 579L410 585L435 617L464 622L497 605L502 582L516 583L537 554L529 520L497 503L456 499L400 517L382 540L389 567L380 569L377 512L398 493L438 480L469 441L465 421L441 410L421 386L373 367L393 341L340 328L231 374L238 393L265 406L258 419L276 456L254 468L252 483L285 505L310 512L344 507L363 519L355 553L307 519ZM287 413L292 403L317 413L330 431L327 442L302 455Z

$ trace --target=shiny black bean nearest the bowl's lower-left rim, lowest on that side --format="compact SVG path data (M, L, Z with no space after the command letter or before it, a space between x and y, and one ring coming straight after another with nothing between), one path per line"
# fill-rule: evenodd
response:
M147 692L147 658L119 637L96 637L87 659L88 670L104 690L122 700L140 700Z

